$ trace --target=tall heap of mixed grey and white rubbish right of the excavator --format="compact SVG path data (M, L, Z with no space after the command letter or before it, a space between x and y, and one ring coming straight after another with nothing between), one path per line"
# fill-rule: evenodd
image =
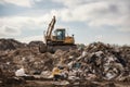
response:
M125 76L130 76L130 47L93 42L87 46L79 57L74 55L69 54L69 60L64 58L64 63L68 61L66 64L78 73L79 78L122 80Z

